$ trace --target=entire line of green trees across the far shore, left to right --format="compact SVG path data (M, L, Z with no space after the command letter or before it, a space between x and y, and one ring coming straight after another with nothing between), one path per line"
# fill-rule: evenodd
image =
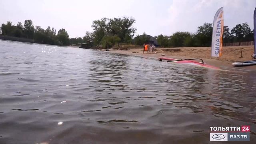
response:
M68 32L62 28L56 33L56 29L48 26L46 29L33 25L32 20L25 20L24 25L21 22L13 25L8 21L2 24L0 32L5 36L14 36L19 38L34 39L36 43L54 44L54 45L79 45L86 43L90 47L102 45L103 48L111 48L115 44L136 44L142 45L148 42L148 37L135 36L136 28L134 18L102 18L92 22L92 32L86 31L84 37L69 38ZM212 23L204 23L199 26L195 33L175 32L171 36L155 36L161 47L196 47L211 46L212 41ZM254 34L247 23L237 24L231 30L224 26L223 42L246 42L253 41Z

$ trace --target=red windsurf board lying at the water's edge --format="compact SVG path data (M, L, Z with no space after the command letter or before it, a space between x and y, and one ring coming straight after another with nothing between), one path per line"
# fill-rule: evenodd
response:
M178 59L174 59L174 58L164 58L164 57L161 57L161 58L158 58L160 60L167 60L167 61L172 61L172 60L178 60ZM182 61L174 61L175 63L180 63L180 64L192 64L192 65L196 65L196 66L202 66L202 67L206 67L206 68L212 68L212 69L220 69L220 68L217 68L215 66L210 66L208 64L203 64L203 63L200 63L200 62L196 62L194 60L182 60Z

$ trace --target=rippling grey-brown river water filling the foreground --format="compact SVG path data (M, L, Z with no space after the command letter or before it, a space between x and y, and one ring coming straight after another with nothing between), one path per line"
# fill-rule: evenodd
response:
M255 71L0 40L0 144L218 144L210 126L241 125L255 144Z

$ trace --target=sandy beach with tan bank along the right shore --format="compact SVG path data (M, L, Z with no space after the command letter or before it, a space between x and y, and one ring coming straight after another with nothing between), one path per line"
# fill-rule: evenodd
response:
M132 56L142 56L149 58L176 58L176 59L188 59L188 58L202 58L204 62L212 66L220 68L235 68L243 70L256 70L256 65L234 67L233 62L253 60L251 57L254 54L254 46L226 46L223 47L222 56L220 58L214 58L210 56L211 47L183 47L183 48L156 48L154 54L142 53L141 48L133 48L132 46L122 46L121 48L129 48L129 50L113 50L108 52L116 54L126 54ZM242 51L242 57L241 56Z

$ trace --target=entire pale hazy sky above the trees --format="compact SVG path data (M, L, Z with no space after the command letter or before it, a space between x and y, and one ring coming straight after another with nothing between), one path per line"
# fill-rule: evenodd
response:
M248 22L253 30L256 0L0 0L0 24L31 19L34 26L65 28L70 38L92 31L93 20L133 17L136 34L196 32L224 6L224 25Z

